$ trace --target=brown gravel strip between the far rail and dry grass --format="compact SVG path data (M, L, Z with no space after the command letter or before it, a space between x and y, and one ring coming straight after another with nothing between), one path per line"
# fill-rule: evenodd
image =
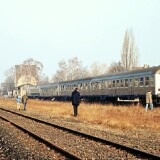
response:
M39 116L37 116L38 118ZM40 117L39 117L40 118ZM119 130L101 125L84 123L73 117L41 117L65 127L95 135L110 141L144 150L160 156L160 132L151 130Z

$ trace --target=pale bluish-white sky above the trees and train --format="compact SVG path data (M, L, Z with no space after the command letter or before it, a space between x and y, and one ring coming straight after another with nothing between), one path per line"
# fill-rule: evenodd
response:
M159 65L160 0L0 0L0 82L28 58L49 78L62 59L109 66L131 28L140 65Z

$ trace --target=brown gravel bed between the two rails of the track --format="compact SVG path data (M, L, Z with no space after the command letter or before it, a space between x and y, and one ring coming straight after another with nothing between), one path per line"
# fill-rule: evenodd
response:
M126 151L116 149L110 145L104 145L93 140L85 139L84 137L63 132L62 130L37 123L30 119L18 117L17 115L10 114L8 112L6 113L1 111L1 114L3 114L3 116L5 115L4 117L8 117L13 122L16 121L19 125L24 126L26 129L38 134L39 136L50 140L51 143L54 143L65 150L78 155L82 159L139 159ZM19 137L18 134L17 136ZM35 142L29 144L32 144L32 146L37 146ZM19 145L16 145L16 147L17 146ZM35 148L34 151L36 151L38 155L41 153L39 150L37 152L37 148Z

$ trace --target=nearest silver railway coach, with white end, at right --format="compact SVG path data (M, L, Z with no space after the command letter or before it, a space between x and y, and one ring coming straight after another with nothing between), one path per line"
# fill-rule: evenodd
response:
M99 100L141 101L152 91L154 103L160 104L160 66L95 77L91 97Z

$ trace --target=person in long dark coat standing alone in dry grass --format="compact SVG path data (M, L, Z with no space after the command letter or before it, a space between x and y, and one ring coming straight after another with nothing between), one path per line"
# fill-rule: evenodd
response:
M71 100L73 105L73 113L74 113L74 116L76 117L78 115L78 106L80 103L80 93L77 87L74 88L71 94Z

